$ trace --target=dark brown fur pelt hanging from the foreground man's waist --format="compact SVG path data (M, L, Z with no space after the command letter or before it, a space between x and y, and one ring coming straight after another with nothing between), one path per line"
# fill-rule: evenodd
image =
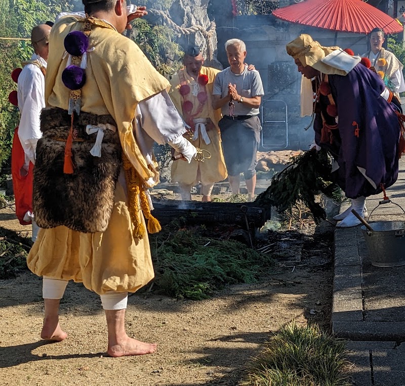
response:
M41 114L43 137L36 146L33 183L33 212L41 228L64 225L84 233L107 229L114 203L115 185L121 168L118 132L104 131L101 157L90 150L97 133L88 135L86 125L110 123L110 115L80 112L74 117L73 174L63 173L64 151L71 116L60 108L44 109Z

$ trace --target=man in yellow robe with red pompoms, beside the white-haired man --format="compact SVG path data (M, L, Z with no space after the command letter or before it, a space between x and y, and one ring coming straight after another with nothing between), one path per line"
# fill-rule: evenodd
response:
M173 161L171 179L179 183L183 200L191 200L191 187L201 182L203 201L207 202L211 201L214 183L227 177L218 127L221 110L214 110L211 103L214 79L220 71L203 66L204 58L198 47L186 50L183 63L185 68L170 82L169 95L190 126L191 143L210 152L211 158L205 162L193 159L188 164ZM190 138L190 132L186 134L187 138Z

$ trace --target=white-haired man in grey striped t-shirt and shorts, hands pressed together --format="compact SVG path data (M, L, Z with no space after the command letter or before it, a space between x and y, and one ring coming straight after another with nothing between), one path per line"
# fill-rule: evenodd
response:
M240 173L245 176L248 201L253 201L256 186L256 156L260 143L259 107L264 95L258 71L248 71L246 46L242 40L225 43L230 67L219 72L214 81L214 109L222 109L219 121L228 179L233 194L239 193Z

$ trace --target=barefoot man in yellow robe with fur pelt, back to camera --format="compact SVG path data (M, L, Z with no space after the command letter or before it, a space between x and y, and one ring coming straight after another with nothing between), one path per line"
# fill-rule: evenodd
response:
M156 228L146 196L158 182L151 149L169 143L188 161L196 149L182 136L169 82L121 35L145 8L127 15L125 0L83 4L88 17L63 15L50 35L33 189L41 229L27 264L44 277L42 338L65 339L59 303L74 280L101 297L110 356L149 354L156 345L130 338L124 322L128 292L154 276L140 210Z

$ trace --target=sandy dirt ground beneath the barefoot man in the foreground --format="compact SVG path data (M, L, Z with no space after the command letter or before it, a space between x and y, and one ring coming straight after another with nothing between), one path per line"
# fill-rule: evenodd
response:
M0 227L12 227L14 219L10 208L0 211ZM332 241L329 223L270 232L257 247L267 246L278 258L259 283L229 286L198 302L130 296L129 334L158 343L155 354L141 357L106 357L101 302L82 284L69 283L62 299L67 339L49 344L39 337L41 278L25 271L0 280L0 385L236 385L250 358L282 325L295 319L328 328Z

